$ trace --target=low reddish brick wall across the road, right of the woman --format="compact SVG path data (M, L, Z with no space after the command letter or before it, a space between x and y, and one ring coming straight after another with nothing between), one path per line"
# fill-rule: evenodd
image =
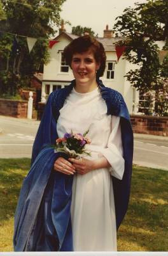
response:
M168 116L130 116L135 133L168 136Z

